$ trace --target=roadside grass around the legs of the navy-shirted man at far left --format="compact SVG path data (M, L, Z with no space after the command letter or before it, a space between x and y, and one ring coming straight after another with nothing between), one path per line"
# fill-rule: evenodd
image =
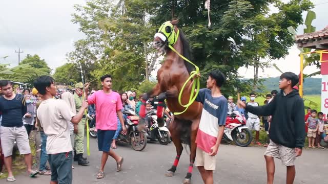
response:
M32 131L30 134L30 148L32 153L32 167L33 165L36 165L36 131ZM13 162L12 162L12 170L14 175L18 175L22 172L26 171L26 165L24 160L24 155L20 155L19 151L17 150L15 155L13 156ZM3 173L0 174L0 179L4 179L8 177L7 169L4 166Z

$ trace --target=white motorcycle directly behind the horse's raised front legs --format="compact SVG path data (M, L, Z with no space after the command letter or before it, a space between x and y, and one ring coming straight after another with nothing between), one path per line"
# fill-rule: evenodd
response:
M147 128L147 139L150 141L156 141L158 140L159 144L161 145L168 145L170 143L170 137L169 137L169 129L167 128L167 124L164 123L164 126L159 127L157 124L157 115L156 110L150 110L147 112L146 117L148 119L148 127Z

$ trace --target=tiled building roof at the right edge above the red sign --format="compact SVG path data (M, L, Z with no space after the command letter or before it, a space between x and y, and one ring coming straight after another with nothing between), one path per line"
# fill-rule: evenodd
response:
M328 49L328 26L313 33L296 35L295 42L299 48Z

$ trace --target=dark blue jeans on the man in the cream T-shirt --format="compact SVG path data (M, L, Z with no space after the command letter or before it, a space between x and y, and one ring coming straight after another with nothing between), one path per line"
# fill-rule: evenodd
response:
M72 151L48 154L48 161L51 168L51 181L60 184L72 184Z

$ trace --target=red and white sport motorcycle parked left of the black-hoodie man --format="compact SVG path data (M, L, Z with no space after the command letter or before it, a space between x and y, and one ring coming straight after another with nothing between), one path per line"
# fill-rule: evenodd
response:
M253 140L252 132L246 126L246 119L239 111L233 111L230 116L227 116L223 140L234 141L236 145L242 147L251 144Z

